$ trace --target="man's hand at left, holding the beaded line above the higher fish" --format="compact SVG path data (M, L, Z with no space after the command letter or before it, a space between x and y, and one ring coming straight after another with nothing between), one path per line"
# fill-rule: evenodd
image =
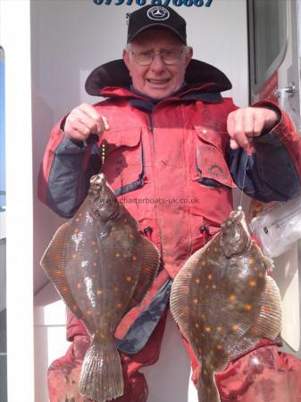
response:
M86 141L90 134L101 135L109 128L105 116L98 113L94 106L81 104L71 110L63 131L68 138Z

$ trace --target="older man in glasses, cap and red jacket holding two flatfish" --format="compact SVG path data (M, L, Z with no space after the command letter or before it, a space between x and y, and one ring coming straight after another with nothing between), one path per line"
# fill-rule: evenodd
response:
M107 99L79 105L54 127L39 197L71 217L87 195L89 177L101 168L161 251L149 295L115 332L125 383L124 395L115 400L144 402L147 385L138 369L158 358L171 280L220 229L233 207L231 189L243 187L246 163L249 196L272 201L299 193L301 141L277 105L238 109L222 98L230 81L192 59L186 22L171 8L147 5L131 13L127 42L123 61L88 77L88 93ZM77 386L89 339L70 313L67 337L71 348L49 368L51 402L85 400ZM198 364L183 340L196 381ZM216 375L222 400L300 401L300 364L279 354L279 343L263 339Z

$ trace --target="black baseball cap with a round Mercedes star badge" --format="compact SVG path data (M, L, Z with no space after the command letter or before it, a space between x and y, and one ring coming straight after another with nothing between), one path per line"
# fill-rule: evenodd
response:
M174 35L187 45L186 21L171 7L146 5L130 13L128 23L128 43L143 30L158 27L171 30Z

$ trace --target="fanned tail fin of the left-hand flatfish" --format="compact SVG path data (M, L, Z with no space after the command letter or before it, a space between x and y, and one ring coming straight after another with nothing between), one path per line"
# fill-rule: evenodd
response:
M97 402L123 395L121 359L113 339L92 340L80 372L79 393Z

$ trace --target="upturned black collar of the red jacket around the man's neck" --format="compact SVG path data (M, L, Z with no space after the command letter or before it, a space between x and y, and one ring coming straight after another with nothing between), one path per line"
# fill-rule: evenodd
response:
M186 70L187 86L176 97L194 99L196 93L216 93L232 88L226 75L211 64L192 59ZM130 74L123 60L114 60L96 67L86 80L86 91L92 96L144 99L130 91ZM188 96L188 97L187 97ZM172 96L171 96L172 97ZM198 98L198 96L197 96Z

